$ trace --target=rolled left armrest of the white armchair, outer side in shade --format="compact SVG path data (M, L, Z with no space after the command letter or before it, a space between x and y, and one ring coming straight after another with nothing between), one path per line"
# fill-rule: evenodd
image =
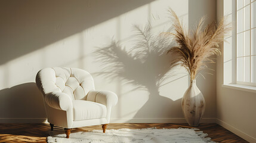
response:
M49 92L45 94L45 102L50 107L53 107L58 110L68 110L72 108L72 101L69 95L62 92Z

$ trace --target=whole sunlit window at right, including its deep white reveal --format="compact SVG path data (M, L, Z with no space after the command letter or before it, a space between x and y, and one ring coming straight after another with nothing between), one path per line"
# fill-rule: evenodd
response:
M224 0L232 36L223 51L224 85L256 86L256 0Z

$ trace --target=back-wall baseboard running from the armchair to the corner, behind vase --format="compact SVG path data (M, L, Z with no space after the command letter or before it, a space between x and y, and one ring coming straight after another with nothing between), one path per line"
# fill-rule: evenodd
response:
M187 123L184 118L111 118L110 123ZM215 118L202 118L201 123L215 123Z

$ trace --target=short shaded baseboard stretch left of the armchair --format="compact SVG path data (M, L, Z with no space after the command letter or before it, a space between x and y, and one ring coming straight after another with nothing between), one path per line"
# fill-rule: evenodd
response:
M47 118L0 118L0 123L45 123Z

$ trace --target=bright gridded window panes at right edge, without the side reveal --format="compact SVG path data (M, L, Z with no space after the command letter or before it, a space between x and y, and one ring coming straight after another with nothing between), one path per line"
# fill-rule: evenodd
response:
M256 85L256 1L236 0L236 83Z

